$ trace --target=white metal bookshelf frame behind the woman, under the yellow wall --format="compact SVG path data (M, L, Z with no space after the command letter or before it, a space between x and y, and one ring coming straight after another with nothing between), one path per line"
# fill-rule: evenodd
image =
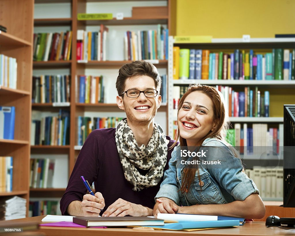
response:
M174 43L173 38L169 40L169 61L168 61L168 135L173 135L173 121L176 118L177 109L173 109L173 86L189 86L189 84L200 83L210 86L230 86L235 91L244 91L244 88L250 86L253 87L258 86L258 89L261 91L269 91L270 92L270 100L269 100L269 110L270 115L269 117L229 117L230 122L232 124L232 128L235 127L235 124L240 123L241 129L243 129L243 124L247 124L248 127L251 127L254 124L267 124L267 129L269 128L278 128L279 124L283 123L283 104L292 104L294 103L294 88L295 88L295 81L294 80L204 80L204 79L173 79L173 46L178 46L181 48L186 49L202 49L202 50L210 50L210 53L219 53L223 51L224 53L233 53L235 49L245 50L245 52L249 52L250 49L253 49L255 53L271 53L273 48L283 48L289 49L292 52L294 48L294 38L251 38L250 42L243 42L242 38L220 38L220 39L212 39L211 43ZM223 64L222 64L223 65ZM246 126L247 127L247 126ZM257 126L256 126L257 127ZM255 145L254 145L255 146ZM259 145L258 145L259 146ZM281 145L280 145L281 146ZM271 147L273 148L273 147ZM257 153L259 153L259 147L257 149ZM262 148L261 150L266 150L266 148ZM262 154L261 154L262 153ZM243 158L246 171L251 172L250 178L253 178L254 182L256 181L262 183L262 181L269 181L269 175L264 171L264 178L262 178L262 174L258 173L257 171L251 171L253 166L255 170L259 168L258 166L282 166L283 155L279 152L279 154L271 154L267 153L264 155L263 151L260 152L258 155L243 155ZM267 167L266 167L267 168ZM260 170L259 170L260 171ZM258 172L259 172L258 171ZM257 177L258 176L258 177ZM278 173L277 173L278 176ZM272 177L271 177L272 178ZM262 180L263 179L263 180ZM282 186L283 179L276 177L276 186ZM259 185L260 186L260 185ZM270 185L268 185L270 186ZM261 187L261 189L260 189ZM279 191L279 197L273 197L273 194L267 194L268 188L261 186L259 189L262 191L264 195L262 196L263 200L266 201L282 201L282 189ZM276 195L278 195L278 190L276 191Z

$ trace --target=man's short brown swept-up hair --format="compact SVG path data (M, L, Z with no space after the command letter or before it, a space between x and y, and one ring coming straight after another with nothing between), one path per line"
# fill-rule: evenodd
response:
M119 75L116 81L116 89L119 96L124 93L125 81L127 78L134 78L137 76L149 76L155 81L156 90L160 91L161 77L157 68L147 61L133 61L131 63L122 65L119 69Z

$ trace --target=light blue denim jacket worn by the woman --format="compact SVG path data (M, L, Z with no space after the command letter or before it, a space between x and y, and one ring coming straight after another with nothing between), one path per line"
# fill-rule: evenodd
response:
M199 151L203 150L203 157L199 158L200 165L193 183L188 192L184 194L181 189L181 178L183 171L187 168L181 164L181 148L174 148L169 169L164 173L155 199L166 197L173 200L178 206L191 206L195 204L225 204L235 200L244 201L250 194L259 191L248 176L242 172L242 163L236 158L226 143L216 138L204 140ZM217 161L219 164L208 164L203 161ZM204 164L203 164L204 163ZM211 163L211 162L209 162Z

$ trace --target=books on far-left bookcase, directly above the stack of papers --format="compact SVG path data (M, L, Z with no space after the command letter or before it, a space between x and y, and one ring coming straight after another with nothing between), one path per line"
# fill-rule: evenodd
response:
M12 192L13 158L0 157L0 192Z

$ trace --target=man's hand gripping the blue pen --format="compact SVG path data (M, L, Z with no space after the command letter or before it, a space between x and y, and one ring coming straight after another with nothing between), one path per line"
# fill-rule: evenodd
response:
M104 198L100 192L96 192L95 196L85 194L81 205L84 216L98 216L100 211L104 209Z

